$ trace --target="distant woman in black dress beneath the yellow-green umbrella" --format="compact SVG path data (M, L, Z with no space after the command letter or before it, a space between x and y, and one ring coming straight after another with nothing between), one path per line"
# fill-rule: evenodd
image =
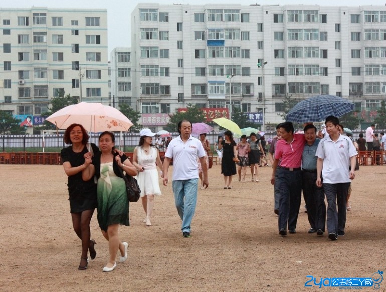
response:
M218 149L223 149L221 173L224 175L224 189L231 189L232 177L236 174L235 162L238 161L237 150L231 131L224 132L224 139L220 138L218 143Z

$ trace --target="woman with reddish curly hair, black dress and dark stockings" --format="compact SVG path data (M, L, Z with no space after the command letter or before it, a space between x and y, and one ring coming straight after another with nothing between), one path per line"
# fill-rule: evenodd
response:
M72 124L64 133L64 142L71 146L63 148L61 158L63 168L68 175L68 193L70 201L70 212L72 226L76 235L82 241L82 255L78 269L87 269L87 252L90 250L90 257L94 259L96 251L94 249L95 240L90 240L90 221L97 206L96 184L94 178L83 181L82 170L86 169L90 163L83 157L87 152L99 153L98 147L91 143L87 149L88 134L82 125Z

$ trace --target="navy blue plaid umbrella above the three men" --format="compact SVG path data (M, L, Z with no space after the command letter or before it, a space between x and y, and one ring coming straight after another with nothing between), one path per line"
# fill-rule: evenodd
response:
M290 110L286 121L296 123L322 122L328 116L340 117L354 109L349 100L334 95L316 95L302 100Z

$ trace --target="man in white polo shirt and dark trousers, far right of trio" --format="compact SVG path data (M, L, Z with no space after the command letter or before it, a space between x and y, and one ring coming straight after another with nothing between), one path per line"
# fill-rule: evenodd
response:
M316 150L316 185L323 186L327 198L328 238L338 239L344 236L346 226L346 198L350 179L355 178L356 155L354 144L349 137L339 134L339 119L334 116L326 118L328 137L323 138ZM351 166L351 170L349 167ZM336 211L338 206L338 211Z

